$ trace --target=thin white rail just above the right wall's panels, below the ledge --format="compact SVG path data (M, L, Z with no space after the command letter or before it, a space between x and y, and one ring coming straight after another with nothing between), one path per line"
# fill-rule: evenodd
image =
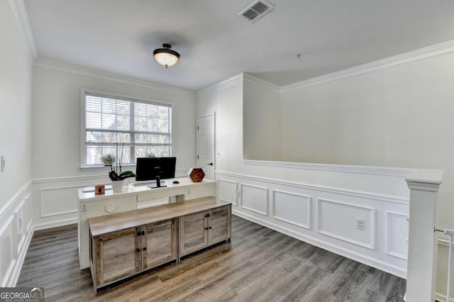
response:
M227 177L237 177L237 178L239 177L241 179L264 181L264 182L267 182L270 184L282 184L284 186L293 186L295 188L323 191L323 192L328 192L328 193L333 193L333 194L341 194L341 195L345 195L345 196L352 196L352 197L359 197L359 198L367 198L367 199L372 199L372 200L376 200L376 201L399 203L399 204L404 204L404 205L409 204L409 198L402 198L399 196L372 194L372 193L362 192L362 191L331 188L328 186L315 186L315 185L311 185L311 184L301 184L301 183L297 183L294 181L282 181L282 180L277 180L277 179L269 179L269 178L265 178L265 177L254 177L254 176L249 176L249 175L245 175L245 174L236 174L236 173L230 173L230 172L216 171L215 173L216 173L216 177L217 177L217 175L224 175Z

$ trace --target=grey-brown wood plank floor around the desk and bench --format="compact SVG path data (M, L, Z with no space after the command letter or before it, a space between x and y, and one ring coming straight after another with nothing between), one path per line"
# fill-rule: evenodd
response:
M232 242L93 294L77 225L35 232L17 286L46 301L402 301L405 280L232 216Z

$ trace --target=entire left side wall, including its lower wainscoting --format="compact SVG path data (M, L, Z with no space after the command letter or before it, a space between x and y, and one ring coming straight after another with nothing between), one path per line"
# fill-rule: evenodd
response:
M15 284L31 234L32 55L12 1L0 1L0 286Z

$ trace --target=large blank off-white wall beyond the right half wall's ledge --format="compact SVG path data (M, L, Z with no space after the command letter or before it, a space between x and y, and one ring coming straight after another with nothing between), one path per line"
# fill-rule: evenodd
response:
M282 160L443 169L454 228L454 52L282 94Z

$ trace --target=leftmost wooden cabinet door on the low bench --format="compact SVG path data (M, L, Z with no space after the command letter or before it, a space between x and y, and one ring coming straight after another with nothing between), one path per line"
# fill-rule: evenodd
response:
M139 272L140 237L136 228L96 237L96 286Z

